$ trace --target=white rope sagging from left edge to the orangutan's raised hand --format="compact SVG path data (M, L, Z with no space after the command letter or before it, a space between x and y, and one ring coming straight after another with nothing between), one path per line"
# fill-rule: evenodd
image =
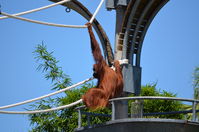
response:
M5 12L1 12L1 15L8 16L8 17L15 18L15 19L19 19L19 20L23 20L23 21L27 21L27 22L48 25L48 26L68 27L68 28L86 28L87 27L85 25L63 25L63 24L55 24L55 23L47 23L47 22L42 22L42 21L36 21L36 20L32 20L32 19L14 16L14 15L11 15L11 14L8 14L8 13L5 13Z

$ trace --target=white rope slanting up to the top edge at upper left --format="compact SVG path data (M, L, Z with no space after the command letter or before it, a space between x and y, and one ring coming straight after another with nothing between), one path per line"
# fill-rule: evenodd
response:
M50 8L50 7L53 7L53 6L61 5L61 4L63 4L63 3L69 2L69 1L71 1L71 0L62 0L62 1L60 1L60 2L51 4L51 5L43 6L43 7L40 7L40 8L36 8L36 9L32 9L32 10L28 10L28 11L24 11L24 12L12 14L12 15L13 15L13 16L25 15L25 14L37 12L37 11L40 11L40 10L44 10L44 9L47 9L47 8ZM0 20L1 20L1 19L6 19L6 18L9 18L9 17L8 17L8 16L3 16L3 17L0 17Z

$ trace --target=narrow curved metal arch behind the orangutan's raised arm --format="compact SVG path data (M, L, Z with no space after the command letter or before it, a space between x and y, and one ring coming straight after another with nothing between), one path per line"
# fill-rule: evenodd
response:
M49 1L59 2L60 0L49 0ZM91 12L77 0L72 0L72 1L64 3L62 5L75 10L77 13L82 15L87 20L90 20L92 17ZM99 24L99 22L96 19L94 19L94 21L93 21L93 27L101 41L101 45L102 45L102 48L104 51L104 57L107 59L108 64L112 65L114 58L113 58L113 51L112 51L108 36L106 35L102 26Z

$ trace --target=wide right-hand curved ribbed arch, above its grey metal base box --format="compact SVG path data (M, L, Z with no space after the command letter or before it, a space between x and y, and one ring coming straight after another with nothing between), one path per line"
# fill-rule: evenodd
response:
M169 0L131 0L122 24L123 58L140 66L141 48L149 25ZM136 56L136 58L134 58ZM134 61L134 59L136 59ZM135 62L135 64L134 64Z

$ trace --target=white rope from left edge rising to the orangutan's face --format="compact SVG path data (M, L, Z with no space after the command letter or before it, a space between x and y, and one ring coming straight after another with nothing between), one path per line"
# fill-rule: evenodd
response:
M64 89L61 89L59 91L56 91L56 92L53 92L53 93L50 93L50 94L47 94L47 95L44 95L44 96L40 96L38 98L34 98L34 99L30 99L30 100L26 100L26 101L23 101L23 102L19 102L19 103L15 103L15 104L11 104L11 105L6 105L6 106L1 106L0 109L7 109L7 108L11 108L11 107L15 107L15 106L18 106L18 105L22 105L22 104L27 104L27 103L30 103L30 102L33 102L33 101L36 101L36 100L40 100L40 99L43 99L43 98L46 98L46 97L49 97L49 96L52 96L52 95L55 95L55 94L58 94L58 93L61 93L61 92L64 92L66 90L69 90L71 88L74 88L74 87L77 87L81 84L84 84L90 80L92 80L93 78L89 78L89 79L86 79L84 81L81 81L79 83L76 83L72 86L69 86L67 88L64 88ZM0 112L1 113L1 112Z

